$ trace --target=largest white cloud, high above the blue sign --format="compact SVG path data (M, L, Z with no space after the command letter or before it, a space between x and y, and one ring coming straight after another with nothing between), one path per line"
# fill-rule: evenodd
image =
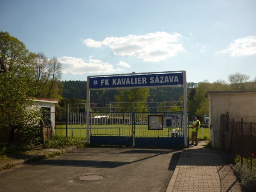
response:
M177 55L183 51L183 45L178 44L181 35L166 32L148 33L146 35L128 35L125 37L107 37L102 42L86 39L87 47L108 46L115 55L137 56L143 61L159 62Z

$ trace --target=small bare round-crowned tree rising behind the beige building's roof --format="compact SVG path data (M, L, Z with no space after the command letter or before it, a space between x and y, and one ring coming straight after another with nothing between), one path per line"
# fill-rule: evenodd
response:
M228 81L230 81L232 90L243 90L245 88L244 84L248 79L250 79L250 76L242 73L233 73L228 76Z

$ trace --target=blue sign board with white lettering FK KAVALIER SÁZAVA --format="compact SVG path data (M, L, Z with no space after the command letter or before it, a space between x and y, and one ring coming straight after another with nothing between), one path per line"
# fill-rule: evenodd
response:
M183 73L90 77L90 89L183 85Z

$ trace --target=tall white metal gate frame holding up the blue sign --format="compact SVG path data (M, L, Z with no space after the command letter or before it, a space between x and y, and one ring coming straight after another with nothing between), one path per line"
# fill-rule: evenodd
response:
M170 74L169 74L170 73ZM95 87L95 88L91 88L90 87L90 78L121 78L121 77L142 77L142 76L158 76L158 75L174 75L176 73L182 73L182 77L183 77L183 83L182 84L174 84L174 83L169 83L169 84L160 84L160 82L158 82L159 84L157 84L156 82L154 83L154 85L143 85L143 84L134 84L133 85L119 85L119 86L112 86L111 87L104 87L104 85L102 87ZM103 79L104 80L104 79ZM106 80L102 81L101 83L104 82L105 85L106 84ZM93 84L91 84L93 87ZM112 74L112 75L103 75L103 76L87 76L87 128L86 128L86 142L89 144L90 143L90 90L105 90L105 89L135 89L135 88L152 88L152 87L182 87L183 86L183 98L184 98L184 145L186 147L188 147L188 122L187 122L187 83L186 83L186 71L169 71L169 72L153 72L153 73L126 73L126 74Z

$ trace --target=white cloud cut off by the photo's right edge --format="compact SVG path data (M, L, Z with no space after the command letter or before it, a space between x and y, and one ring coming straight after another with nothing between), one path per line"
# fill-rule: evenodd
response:
M230 56L249 56L256 54L256 36L247 36L237 39L222 53L229 53Z

